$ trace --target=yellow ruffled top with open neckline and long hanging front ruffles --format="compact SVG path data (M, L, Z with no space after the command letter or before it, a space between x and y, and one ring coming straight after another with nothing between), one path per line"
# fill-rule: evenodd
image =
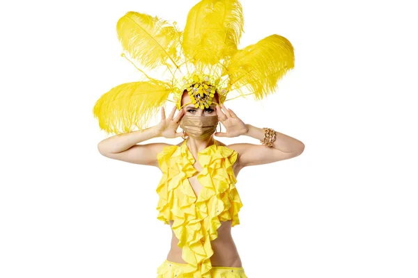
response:
M170 145L157 154L162 178L157 186L160 196L157 219L169 224L173 220L174 234L187 262L183 274L176 278L212 278L211 240L217 238L221 221L232 220L232 227L240 224L238 213L242 207L235 188L233 164L238 153L215 143L198 153L203 170L194 168L195 159L186 145ZM188 178L197 175L203 188L196 197Z

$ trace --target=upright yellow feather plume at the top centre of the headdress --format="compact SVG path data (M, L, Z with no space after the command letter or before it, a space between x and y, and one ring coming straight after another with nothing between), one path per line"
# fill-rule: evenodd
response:
M203 0L187 15L182 47L195 65L215 65L233 56L243 32L244 17L238 0Z

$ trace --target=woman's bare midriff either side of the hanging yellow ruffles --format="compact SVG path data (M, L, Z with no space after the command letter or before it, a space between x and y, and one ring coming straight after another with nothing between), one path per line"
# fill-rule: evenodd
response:
M170 227L173 225L173 220L170 220ZM212 266L228 266L232 268L241 268L242 263L238 250L233 242L231 235L231 220L221 222L221 226L217 229L218 236L210 243L212 245L213 255L210 257ZM171 249L167 256L168 261L174 263L187 263L182 257L182 249L178 247L178 238L171 230Z

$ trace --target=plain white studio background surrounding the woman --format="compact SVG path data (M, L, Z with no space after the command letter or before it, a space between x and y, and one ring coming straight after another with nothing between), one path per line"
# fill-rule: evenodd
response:
M412 2L242 0L240 48L283 35L295 69L262 104L227 107L306 146L238 175L233 237L249 278L418 277ZM184 26L195 3L1 3L0 277L156 277L171 240L160 170L101 156L92 108L139 76L117 20L134 10Z

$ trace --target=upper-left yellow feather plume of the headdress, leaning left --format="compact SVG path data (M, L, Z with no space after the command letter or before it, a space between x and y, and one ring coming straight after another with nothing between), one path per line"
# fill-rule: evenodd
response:
M177 67L181 32L167 21L143 13L127 12L118 20L116 31L123 49L145 67Z

